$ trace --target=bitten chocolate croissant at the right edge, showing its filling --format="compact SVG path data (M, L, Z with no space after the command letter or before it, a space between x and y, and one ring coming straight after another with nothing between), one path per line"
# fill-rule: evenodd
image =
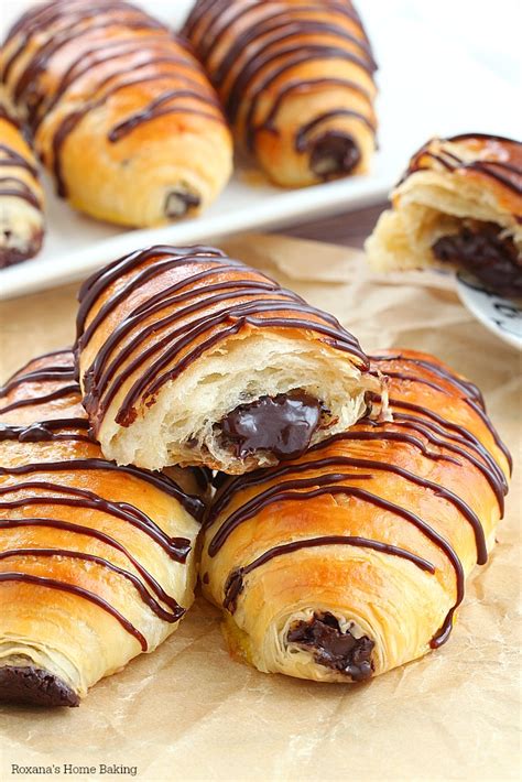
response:
M432 139L391 198L366 243L376 269L454 267L522 296L522 143L482 133Z

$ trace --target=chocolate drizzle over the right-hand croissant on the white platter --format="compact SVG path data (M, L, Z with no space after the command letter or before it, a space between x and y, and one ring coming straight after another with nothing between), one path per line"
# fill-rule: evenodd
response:
M376 70L371 47L352 4L196 2L184 28L199 58L207 67L228 117L243 132L244 142L254 151L257 133L279 133L278 115L287 97L295 91L347 88L347 104L327 113L312 116L297 132L295 149L309 150L308 133L328 121L328 130L339 133L331 122L349 116L362 122L374 134L372 99L365 85L371 84ZM333 61L331 64L329 61ZM336 61L356 68L355 80L336 77ZM315 63L319 78L295 78L300 66ZM331 73L331 77L329 74ZM349 95L356 90L361 111L350 108ZM264 116L263 116L264 115ZM348 137L346 137L348 138ZM355 142L355 150L359 154ZM326 154L326 153L325 153ZM331 156L331 150L329 151ZM356 164L345 162L336 172L347 173Z

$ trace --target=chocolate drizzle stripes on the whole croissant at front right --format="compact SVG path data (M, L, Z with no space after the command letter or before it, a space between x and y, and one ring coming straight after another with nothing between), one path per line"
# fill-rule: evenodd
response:
M216 500L205 522L205 529L208 531L207 551L210 557L215 557L239 525L249 519L258 517L259 513L270 508L273 503L281 507L283 502L306 502L319 497L340 495L354 498L359 502L373 504L413 524L445 554L452 564L456 577L455 602L442 627L431 640L431 645L437 648L447 640L455 611L464 599L465 573L459 556L450 542L437 531L436 510L434 510L435 523L432 521L428 523L416 513L406 510L399 502L371 491L372 479L377 479L381 471L392 473L401 480L418 487L418 491L429 491L434 497L439 498L441 502L452 504L472 530L478 564L485 564L488 555L482 523L476 511L460 496L449 488L425 478L423 475L405 469L402 466L402 458L398 459L398 461L391 460L388 455L377 458L376 448L371 445L369 446L371 458L363 458L361 448L363 454L363 444L366 442L396 442L405 448L414 447L422 453L423 458L429 460L450 463L463 469L467 468L466 465L472 465L488 481L499 501L500 512L502 513L503 496L507 492L505 477L496 458L474 433L434 413L433 408L437 409L439 406L434 394L435 392L443 392L453 398L449 404L454 404L456 409L458 409L458 401L460 410L463 405L469 406L476 416L475 425L482 426L485 432L491 435L496 447L505 457L505 460L509 464L511 460L505 446L500 441L483 411L483 401L475 384L453 374L442 365L432 362L422 356L403 356L402 354L393 355L390 352L389 356L372 357L372 367L379 368L391 378L390 384L394 392L394 395L390 399L393 421L383 423L365 419L351 431L335 435L328 441L313 446L295 464L286 463L267 470L257 470L240 478L232 478L224 484L219 482ZM403 371L404 369L406 371ZM434 376L438 379L437 382L431 380ZM417 385L418 397L426 400L428 406L406 401L405 398L410 395L413 385ZM404 398L402 394L404 394ZM409 412L404 414L402 410L407 410ZM406 430L405 432L402 431L404 428ZM361 445L357 448L357 456L355 456L352 455L351 443L357 442ZM435 446L435 449L433 446ZM342 467L355 468L355 471L341 471ZM329 471L330 469L331 471ZM452 469L455 469L455 467ZM355 481L362 481L362 486L355 486ZM369 488L366 488L365 485ZM260 487L260 489L252 493L252 489L255 487ZM250 499L239 506L235 502L235 510L231 513L227 513L229 503L236 501L238 493L242 491L248 492ZM396 495L401 495L399 489ZM210 530L213 531L210 532ZM296 528L297 531L298 528ZM250 564L233 571L225 585L225 607L231 612L236 610L238 598L244 589L244 576L253 569L262 567L276 556L292 554L301 549L322 545L366 546L387 555L401 556L428 573L435 573L433 564L424 557L420 557L414 552L390 546L381 541L352 539L344 535L295 540L269 549Z

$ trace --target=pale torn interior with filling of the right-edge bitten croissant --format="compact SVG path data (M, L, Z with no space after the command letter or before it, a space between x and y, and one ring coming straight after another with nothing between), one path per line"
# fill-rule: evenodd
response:
M456 175L416 171L399 185L393 204L366 243L373 268L453 265L500 295L522 295L522 227L499 210L482 183L459 185Z

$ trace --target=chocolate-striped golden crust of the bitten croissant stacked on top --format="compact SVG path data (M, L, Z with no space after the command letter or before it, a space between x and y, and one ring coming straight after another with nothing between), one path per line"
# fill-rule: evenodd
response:
M180 271L184 273L180 275ZM173 284L168 284L171 273ZM148 283L162 274L164 287L148 297ZM111 294L117 281L118 287ZM122 426L133 422L140 400L153 403L166 382L246 326L314 332L327 344L354 356L361 369L367 367L359 344L336 318L260 272L206 247L149 248L120 259L87 281L79 293L78 355L98 329L107 327L107 321L115 317L130 294L137 296L141 290L143 295L138 297L135 307L120 321L112 321L109 336L84 371L84 404L95 432L123 383L135 373L138 379L115 416ZM157 290L157 285L152 285L152 290ZM88 322L98 301L101 304Z

